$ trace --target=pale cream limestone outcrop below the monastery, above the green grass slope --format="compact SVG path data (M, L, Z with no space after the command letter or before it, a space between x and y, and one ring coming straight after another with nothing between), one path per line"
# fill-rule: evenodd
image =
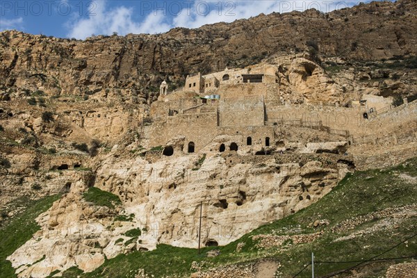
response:
M122 205L89 204L81 197L86 184L74 183L38 218L41 231L8 258L19 277L45 277L74 265L88 272L105 258L153 250L158 243L197 247L200 204L202 245L224 245L316 202L347 171L332 157L281 163L271 156L254 159L243 150L181 153L150 162L122 153L115 147L99 158L95 183L120 196ZM131 240L125 235L131 229L142 235Z

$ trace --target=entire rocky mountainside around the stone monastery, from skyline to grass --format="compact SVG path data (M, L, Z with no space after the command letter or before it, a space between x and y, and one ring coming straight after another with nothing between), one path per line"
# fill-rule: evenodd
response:
M346 136L281 127L277 136L291 144L279 157L256 146L218 152L220 142L234 142L230 135L188 154L179 136L170 142L174 156L163 156L147 134L157 86L166 79L174 90L186 74L273 64L279 93L293 104L413 96L416 14L416 2L402 0L161 35L77 41L0 33L2 223L24 209L24 197L63 195L37 219L40 231L8 254L18 276L89 272L161 243L196 247L201 204L202 244L210 246L318 201L354 170Z

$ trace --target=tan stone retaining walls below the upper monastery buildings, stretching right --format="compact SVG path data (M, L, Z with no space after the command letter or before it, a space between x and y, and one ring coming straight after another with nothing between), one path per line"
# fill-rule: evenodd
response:
M227 90L222 92L221 88ZM145 136L152 146L145 147L164 146L174 138L183 138L183 147L177 147L181 153L187 152L190 142L194 143L195 152L206 147L210 151L218 150L222 144L228 149L231 142L235 142L240 154L254 154L265 147L265 138L270 139L271 147L291 143L288 146L295 148L295 152L301 152L309 142L346 141L352 145L347 152L355 156L359 167L377 165L376 153L386 158L387 166L413 154L407 144L413 144L417 137L417 101L384 113L380 110L370 113L366 119L363 117L366 106L283 105L278 84L220 85L213 92L221 95L220 101L208 100L204 104L202 99L195 99L186 92L183 92L184 97L177 93L164 101L156 101L151 108L154 124ZM178 114L170 115L172 109ZM306 128L306 133L284 138L284 142L280 138L282 134L277 133L290 127L291 130ZM233 139L225 141L222 136L233 136ZM245 148L248 137L256 147ZM280 146L275 146L276 143ZM281 150L285 152L287 147ZM407 152L398 156L395 147L407 149ZM389 158L391 154L400 160Z

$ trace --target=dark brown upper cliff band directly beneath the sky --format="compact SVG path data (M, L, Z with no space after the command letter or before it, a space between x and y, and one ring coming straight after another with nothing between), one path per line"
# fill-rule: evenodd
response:
M85 41L4 31L0 85L6 92L92 95L105 101L156 99L162 79L243 67L276 54L309 51L325 62L352 65L416 56L415 1L373 2L332 13L271 13L231 24L175 28L160 35L97 36ZM415 67L415 64L414 64ZM374 77L375 78L375 77Z

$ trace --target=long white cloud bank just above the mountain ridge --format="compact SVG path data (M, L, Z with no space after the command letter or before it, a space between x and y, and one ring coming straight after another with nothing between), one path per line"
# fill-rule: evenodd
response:
M254 17L260 13L269 14L272 12L288 13L291 10L306 10L316 8L322 12L354 6L359 1L281 1L281 0L259 0L259 1L202 1L197 0L190 5L186 2L176 2L182 6L181 13L169 15L170 6L165 10L153 7L145 16L142 22L135 22L132 15L139 10L133 7L118 6L108 7L106 1L96 1L95 15L87 18L80 18L73 15L67 28L70 29L68 36L71 38L86 38L93 33L96 35L111 35L117 32L120 35L127 33L162 33L174 27L198 28L204 24L215 22L233 22L236 19ZM114 3L114 2L113 2ZM169 2L167 5L170 5ZM189 3L189 2L188 2ZM208 3L211 3L207 9ZM221 8L220 8L221 3Z

